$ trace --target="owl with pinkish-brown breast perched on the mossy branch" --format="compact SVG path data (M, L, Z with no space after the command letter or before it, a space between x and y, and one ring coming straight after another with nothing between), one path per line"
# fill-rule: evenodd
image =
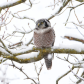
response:
M55 32L51 23L47 19L39 19L36 22L33 35L34 45L37 48L51 48L55 41ZM52 67L53 54L48 53L44 56L47 69Z

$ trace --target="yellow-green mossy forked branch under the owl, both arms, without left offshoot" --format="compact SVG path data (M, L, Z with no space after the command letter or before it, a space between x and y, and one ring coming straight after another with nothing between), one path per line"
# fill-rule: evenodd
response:
M31 52L37 52L37 51L39 51L38 56L28 57L26 59L18 58L19 55L30 54ZM7 55L7 56L2 56L2 57L19 62L19 63L31 63L31 62L36 62L36 61L41 60L42 58L44 58L44 56L47 53L84 54L84 51L78 52L73 49L71 50L71 49L51 49L51 48L38 49L38 48L33 48L33 49L25 51L25 52L13 54L12 56Z

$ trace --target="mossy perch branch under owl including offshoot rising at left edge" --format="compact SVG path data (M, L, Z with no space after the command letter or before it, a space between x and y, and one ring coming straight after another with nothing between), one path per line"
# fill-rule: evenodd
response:
M8 54L6 52L0 52L0 56L6 59L10 59L19 63L31 63L31 62L36 62L41 60L42 58L44 58L44 56L48 53L66 53L66 54L84 54L84 50L82 51L77 51L74 49L57 49L57 48L36 48L33 47L32 49L28 49L26 51L23 50L23 52L19 52L19 53L12 53L4 44L4 42L0 39L0 42L3 46L3 49L5 49ZM33 54L33 56L31 57L27 57L25 59L20 58L20 55L24 55L24 54L30 54L32 52L37 52L38 55L35 56L35 54ZM38 53L39 52L39 53ZM19 56L19 57L18 57Z

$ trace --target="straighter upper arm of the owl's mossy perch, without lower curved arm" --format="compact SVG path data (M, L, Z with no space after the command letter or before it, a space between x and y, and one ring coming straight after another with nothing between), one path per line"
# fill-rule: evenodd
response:
M47 53L66 53L66 54L84 54L84 51L76 51L74 49L53 49L53 48L33 48L31 50L27 50L24 52L20 52L20 53L15 53L13 54L13 56L18 56L18 55L22 55L22 54L28 54L31 52L37 52L40 51L40 53L42 53L42 55L47 54Z

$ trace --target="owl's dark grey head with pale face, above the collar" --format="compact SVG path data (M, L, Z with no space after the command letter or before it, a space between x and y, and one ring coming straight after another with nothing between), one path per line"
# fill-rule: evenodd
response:
M45 29L45 28L48 28L48 27L51 27L51 24L50 24L49 20L47 20L47 19L37 20L37 22L36 22L36 28L37 29Z

